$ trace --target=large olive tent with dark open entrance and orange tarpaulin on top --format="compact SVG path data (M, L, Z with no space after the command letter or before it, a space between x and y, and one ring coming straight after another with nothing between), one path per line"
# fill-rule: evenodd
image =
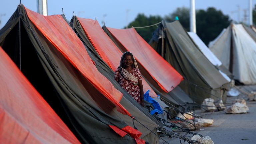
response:
M22 66L21 71L54 110L61 107L65 110L57 114L82 143L140 142L141 133L130 127L133 122L129 112L134 113L138 121L145 120L151 131L156 131L157 124L138 108L129 107L131 103L98 72L64 15L42 16L19 5L0 30L0 45L16 65ZM19 52L21 55L17 55ZM93 74L88 73L92 71ZM98 76L97 81L101 83L97 87L93 84L96 77L90 78L91 75ZM102 85L108 86L101 89ZM58 100L53 100L56 97ZM61 106L57 106L59 101ZM124 115L117 108L129 112ZM136 121L135 125L143 139L157 141L148 129Z

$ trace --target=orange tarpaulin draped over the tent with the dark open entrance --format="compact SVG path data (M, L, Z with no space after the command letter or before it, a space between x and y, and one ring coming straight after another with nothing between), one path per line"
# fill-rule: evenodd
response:
M90 83L116 105L119 112L131 114L119 103L122 93L95 67L83 43L61 15L43 16L25 8L30 21L78 69Z

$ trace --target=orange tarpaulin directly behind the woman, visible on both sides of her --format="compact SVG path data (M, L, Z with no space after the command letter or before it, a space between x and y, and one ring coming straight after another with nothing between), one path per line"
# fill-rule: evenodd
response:
M98 21L78 17L77 19L98 54L113 71L116 71L123 53L104 32ZM157 97L156 93L144 79L142 79L142 83L144 92L150 90L150 96Z

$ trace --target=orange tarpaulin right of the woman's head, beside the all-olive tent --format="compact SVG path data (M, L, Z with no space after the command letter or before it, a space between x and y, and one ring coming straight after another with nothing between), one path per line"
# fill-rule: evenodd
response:
M136 60L164 91L170 92L183 80L183 77L134 28L114 29L108 27L107 29L127 51L134 54Z

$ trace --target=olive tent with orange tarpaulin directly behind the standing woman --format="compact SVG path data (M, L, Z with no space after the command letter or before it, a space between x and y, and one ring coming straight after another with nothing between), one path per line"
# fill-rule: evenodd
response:
M83 19L83 23L80 23L78 19ZM112 67L117 68L120 62L120 57L122 55L121 51L117 49L113 49L112 47L116 47L115 44L112 42L112 40L106 35L106 33L103 31L101 26L98 24L96 20L91 19L84 19L84 18L78 18L74 16L71 20L71 26L76 31L77 35L80 37L82 42L86 45L86 49L88 53L91 53L90 57L95 61L96 67L98 67L98 70L106 76L117 88L120 92L122 92L124 95L127 95L130 97L130 101L133 102L134 105L139 105L115 80L114 80L114 71L113 69L110 69L109 65L107 65L105 62L108 63L115 63L115 65L112 65ZM100 43L98 43L100 42ZM109 46L111 45L111 46ZM95 48L96 47L96 48ZM112 50L111 50L112 49ZM115 51L117 50L117 51ZM101 59L99 56L99 53L101 56L105 59L105 62ZM108 52L111 52L108 54ZM114 54L114 55L113 55ZM120 57L117 57L119 56ZM111 65L111 64L110 64ZM102 70L101 70L102 69ZM144 83L145 82L145 83ZM143 81L143 88L144 91L147 92L147 87L145 87L146 81ZM149 86L148 86L149 87ZM151 89L151 88L150 88ZM156 93L151 89L150 90L150 96L153 97L155 101L157 101L162 109L168 107L164 102L162 102L159 98L157 98ZM152 96L152 94L154 94ZM144 101L145 102L145 101ZM154 107L150 103L145 103L145 108L149 111L152 111ZM152 106L152 108L151 108ZM141 107L141 106L139 106ZM141 107L142 108L142 107ZM146 114L148 112L145 112ZM163 118L167 120L167 114L161 115L153 115L156 118ZM149 114L149 113L148 113ZM159 120L157 120L159 123ZM161 125L161 124L159 124Z

